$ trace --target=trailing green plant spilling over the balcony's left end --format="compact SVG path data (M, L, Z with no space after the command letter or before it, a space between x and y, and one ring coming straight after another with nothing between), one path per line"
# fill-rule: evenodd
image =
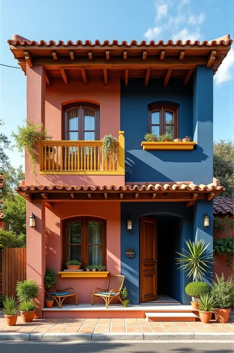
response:
M25 120L25 126L17 126L17 133L12 132L11 136L15 139L15 145L20 153L26 151L29 154L29 160L32 163L32 174L34 180L37 180L35 165L37 163L39 141L51 140L53 137L47 134L47 129L43 129L43 124L35 125ZM23 156L24 157L24 156Z

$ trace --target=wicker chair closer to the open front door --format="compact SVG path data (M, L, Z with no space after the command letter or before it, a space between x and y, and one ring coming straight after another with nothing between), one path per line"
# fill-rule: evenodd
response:
M103 298L105 300L106 308L108 308L111 301L115 298L123 304L122 298L120 296L123 287L123 281L124 276L120 274L111 274L106 289L101 289L98 287L94 289L91 305L93 305L97 298Z

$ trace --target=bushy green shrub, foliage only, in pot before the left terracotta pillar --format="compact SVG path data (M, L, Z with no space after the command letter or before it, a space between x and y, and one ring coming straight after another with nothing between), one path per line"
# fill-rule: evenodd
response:
M17 282L16 293L19 302L33 301L38 298L39 284L34 279L27 279L26 281Z

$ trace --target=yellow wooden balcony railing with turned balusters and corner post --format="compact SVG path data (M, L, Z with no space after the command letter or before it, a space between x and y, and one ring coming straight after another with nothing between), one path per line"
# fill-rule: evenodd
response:
M116 159L102 155L102 141L40 141L40 174L124 175L124 136L115 142Z

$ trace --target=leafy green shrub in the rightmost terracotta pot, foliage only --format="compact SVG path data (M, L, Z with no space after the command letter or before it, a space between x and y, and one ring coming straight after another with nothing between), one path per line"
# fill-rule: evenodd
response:
M234 304L234 279L233 276L225 281L224 274L219 277L215 274L216 280L213 282L212 296L214 297L214 307L219 309L230 309Z

